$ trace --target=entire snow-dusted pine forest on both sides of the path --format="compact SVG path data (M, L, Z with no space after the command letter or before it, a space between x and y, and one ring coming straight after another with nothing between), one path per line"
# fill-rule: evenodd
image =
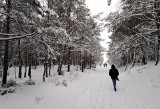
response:
M111 0L108 0L108 5ZM137 8L138 7L138 8ZM7 82L9 67L19 67L18 78L31 78L31 69L44 66L43 81L51 67L78 66L82 72L102 62L100 33L111 32L109 64L125 66L159 62L160 1L121 0L121 10L98 22L85 0L2 0L0 2L0 77ZM106 36L107 37L107 36ZM22 75L22 67L25 67Z

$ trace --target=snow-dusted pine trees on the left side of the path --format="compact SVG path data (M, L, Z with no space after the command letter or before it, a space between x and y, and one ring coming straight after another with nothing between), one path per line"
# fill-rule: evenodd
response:
M32 77L32 68L44 65L43 81L51 66L77 65L82 72L102 61L102 24L91 16L84 0L1 0L0 78L7 83L9 67L18 78ZM22 75L22 67L25 67Z

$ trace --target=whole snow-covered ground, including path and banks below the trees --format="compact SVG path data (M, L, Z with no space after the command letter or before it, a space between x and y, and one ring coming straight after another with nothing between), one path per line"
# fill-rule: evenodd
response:
M36 85L17 88L0 96L1 109L159 109L160 65L149 63L127 71L119 69L117 92L113 90L108 68L98 66L84 73L65 76L67 87L55 86L54 77L42 82L42 69L36 70ZM77 74L77 75L76 75ZM39 76L40 75L40 76ZM69 79L70 78L70 79ZM76 79L74 79L76 78ZM24 79L21 80L21 82Z

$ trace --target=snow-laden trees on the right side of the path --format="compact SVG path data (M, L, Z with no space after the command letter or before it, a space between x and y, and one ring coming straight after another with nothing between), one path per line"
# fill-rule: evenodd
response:
M108 62L118 66L159 62L160 1L122 0L122 9L104 20L110 35Z

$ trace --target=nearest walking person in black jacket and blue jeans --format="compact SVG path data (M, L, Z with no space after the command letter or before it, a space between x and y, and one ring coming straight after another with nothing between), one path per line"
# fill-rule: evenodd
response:
M114 90L117 91L116 89L116 81L118 79L118 75L119 75L119 72L118 70L116 69L116 67L114 65L111 66L111 69L109 70L109 76L111 77L112 79L112 82L113 82L113 87L114 87Z

